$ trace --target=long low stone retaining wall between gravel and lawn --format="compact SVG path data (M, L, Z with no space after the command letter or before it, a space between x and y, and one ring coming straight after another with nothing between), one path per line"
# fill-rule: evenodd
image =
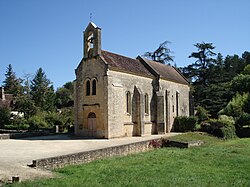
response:
M160 140L160 138L157 138L155 140L158 141ZM33 160L33 163L30 166L44 169L54 169L61 168L67 165L88 163L94 160L104 159L108 157L126 156L129 154L145 152L153 149L153 147L150 145L151 141L152 140L147 140L114 147L107 147L103 149Z

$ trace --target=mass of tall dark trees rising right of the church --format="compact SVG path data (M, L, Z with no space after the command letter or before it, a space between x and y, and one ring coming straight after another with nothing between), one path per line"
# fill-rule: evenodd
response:
M217 117L217 113L232 99L236 92L247 92L249 88L247 72L250 55L244 52L242 57L238 55L227 55L225 59L221 53L217 57L213 50L212 43L197 43L196 52L189 56L195 62L182 68L183 74L192 82L192 94L195 106L202 106L212 117Z

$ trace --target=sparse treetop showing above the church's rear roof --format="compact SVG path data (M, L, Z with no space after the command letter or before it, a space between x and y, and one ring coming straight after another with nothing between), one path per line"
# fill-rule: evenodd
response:
M169 41L165 41L155 51L146 52L143 56L162 64L170 64L174 61L174 56L171 55L173 52L167 47L169 43Z

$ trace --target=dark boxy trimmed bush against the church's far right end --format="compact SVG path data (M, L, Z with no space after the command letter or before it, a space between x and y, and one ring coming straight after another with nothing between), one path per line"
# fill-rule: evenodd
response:
M173 129L175 132L188 132L196 129L197 118L194 116L179 116L174 119Z

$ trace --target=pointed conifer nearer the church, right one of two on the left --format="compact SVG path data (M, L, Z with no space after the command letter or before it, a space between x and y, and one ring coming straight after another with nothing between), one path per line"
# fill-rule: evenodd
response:
M30 94L37 107L45 111L54 109L54 89L42 68L37 70L30 87Z

